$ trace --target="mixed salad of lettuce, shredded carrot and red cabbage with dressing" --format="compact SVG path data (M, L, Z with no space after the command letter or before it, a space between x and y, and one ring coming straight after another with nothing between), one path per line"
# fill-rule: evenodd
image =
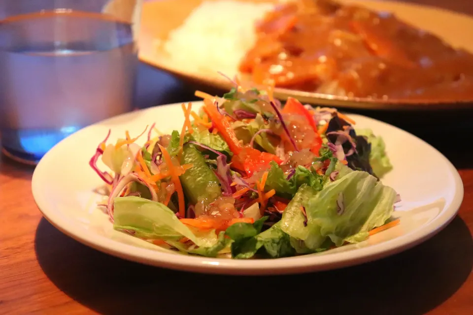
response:
M182 104L184 124L170 134L152 125L107 143L108 132L90 166L108 187L100 206L114 229L241 259L327 251L399 223L400 197L380 181L392 169L382 138L336 109L282 106L271 87L234 84L222 97L196 92L203 105Z

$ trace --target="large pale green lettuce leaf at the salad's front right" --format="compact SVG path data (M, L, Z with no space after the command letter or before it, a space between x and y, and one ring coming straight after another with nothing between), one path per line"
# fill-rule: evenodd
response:
M321 191L301 186L284 211L281 229L304 241L310 251L324 249L328 242L341 246L345 241L360 242L374 227L391 217L396 191L363 171L342 168L342 176ZM344 211L338 209L342 195ZM306 219L301 211L304 206ZM304 220L307 220L304 226ZM302 248L302 247L301 247Z

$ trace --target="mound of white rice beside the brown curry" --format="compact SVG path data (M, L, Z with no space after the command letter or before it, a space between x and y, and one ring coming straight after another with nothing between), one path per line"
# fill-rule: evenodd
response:
M179 68L233 77L255 43L255 22L272 8L271 3L203 1L169 33L164 48Z

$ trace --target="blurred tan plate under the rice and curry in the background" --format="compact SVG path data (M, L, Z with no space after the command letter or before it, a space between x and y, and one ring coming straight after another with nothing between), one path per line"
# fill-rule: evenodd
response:
M249 0L241 0L249 1ZM400 19L424 29L450 43L454 47L464 48L473 52L473 18L467 15L423 5L414 5L403 2L375 1L375 0L339 0L340 2L361 3L377 11L393 12ZM167 40L169 32L179 27L194 8L203 0L159 0L143 4L141 32L140 32L140 59L160 69L169 71L187 81L199 84L206 88L228 90L230 83L217 73L187 69L173 62L163 45L159 43ZM252 0L252 2L275 2L275 0ZM192 55L189 56L192 58ZM458 110L472 108L472 100L456 102L439 102L435 100L403 100L403 99L369 99L346 96L334 96L311 93L297 90L275 89L274 95L280 99L293 96L305 103L320 104L351 109L376 110Z

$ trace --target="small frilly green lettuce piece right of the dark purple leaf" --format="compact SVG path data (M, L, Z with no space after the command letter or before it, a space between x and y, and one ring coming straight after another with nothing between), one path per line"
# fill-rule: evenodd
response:
M374 174L379 178L393 169L393 166L386 155L386 145L383 138L376 137L371 129L356 129L357 135L365 136L371 144L370 164Z

